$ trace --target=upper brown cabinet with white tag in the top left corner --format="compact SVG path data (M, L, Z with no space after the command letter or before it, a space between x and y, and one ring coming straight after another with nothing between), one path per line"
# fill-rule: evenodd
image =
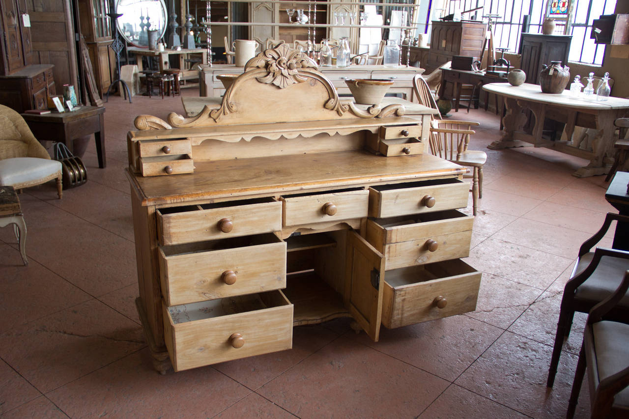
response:
M26 0L0 0L0 74L8 75L33 62L31 29L25 26Z

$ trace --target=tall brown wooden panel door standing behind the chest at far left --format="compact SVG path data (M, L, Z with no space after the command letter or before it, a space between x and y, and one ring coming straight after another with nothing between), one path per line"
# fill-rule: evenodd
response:
M70 0L27 0L33 36L33 62L54 64L59 86L78 89L74 23ZM77 93L78 96L78 93Z

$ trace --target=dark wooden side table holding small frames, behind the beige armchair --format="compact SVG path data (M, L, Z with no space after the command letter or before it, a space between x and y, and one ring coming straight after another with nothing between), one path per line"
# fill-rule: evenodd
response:
M21 114L38 140L62 142L74 153L72 140L84 135L94 134L98 167L106 166L105 159L105 108L102 106L81 106L81 108L64 113L47 113L45 115Z

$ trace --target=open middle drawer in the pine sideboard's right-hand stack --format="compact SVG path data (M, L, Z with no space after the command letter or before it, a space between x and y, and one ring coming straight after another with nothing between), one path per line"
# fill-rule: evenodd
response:
M474 216L457 210L367 220L367 242L387 269L467 257Z

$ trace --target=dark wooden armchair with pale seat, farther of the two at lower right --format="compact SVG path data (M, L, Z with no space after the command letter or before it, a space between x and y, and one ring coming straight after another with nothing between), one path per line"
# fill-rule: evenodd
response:
M570 333L574 312L588 313L596 304L610 296L620 284L624 272L629 269L629 252L603 248L591 252L610 228L611 221L629 222L629 216L614 213L605 216L600 230L581 245L571 279L565 284L548 368L548 387L552 387L555 382L561 349ZM608 315L612 320L629 320L629 296L624 296Z

